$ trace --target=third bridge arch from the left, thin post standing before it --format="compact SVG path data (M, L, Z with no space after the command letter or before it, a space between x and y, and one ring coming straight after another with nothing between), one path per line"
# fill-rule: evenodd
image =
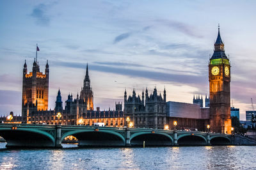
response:
M132 146L143 145L143 141L145 141L146 146L172 146L173 144L172 137L161 132L138 132L130 137Z

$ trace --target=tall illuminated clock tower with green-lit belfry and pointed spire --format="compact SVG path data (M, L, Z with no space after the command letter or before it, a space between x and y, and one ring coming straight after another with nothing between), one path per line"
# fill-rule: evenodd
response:
M220 26L209 62L209 86L211 132L231 134L230 61L220 37Z

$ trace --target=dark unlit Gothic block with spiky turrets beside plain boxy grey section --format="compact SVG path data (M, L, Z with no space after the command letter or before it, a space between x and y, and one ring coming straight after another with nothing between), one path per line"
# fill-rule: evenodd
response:
M148 95L148 89L142 92L142 97L136 97L135 90L132 96L127 98L127 92L124 93L124 112L125 117L129 117L134 123L134 127L145 128L164 128L166 125L166 91L164 89L164 98L161 94L157 95L155 88L153 94Z

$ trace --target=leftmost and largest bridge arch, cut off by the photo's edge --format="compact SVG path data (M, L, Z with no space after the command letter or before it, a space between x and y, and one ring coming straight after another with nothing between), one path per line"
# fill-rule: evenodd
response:
M12 130L10 128L1 128L0 135L6 140L7 148L53 148L55 145L54 137L38 129L19 128Z

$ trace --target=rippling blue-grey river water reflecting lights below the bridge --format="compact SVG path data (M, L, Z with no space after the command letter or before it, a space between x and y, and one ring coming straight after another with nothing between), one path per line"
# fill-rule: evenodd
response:
M0 169L256 169L255 146L9 150Z

